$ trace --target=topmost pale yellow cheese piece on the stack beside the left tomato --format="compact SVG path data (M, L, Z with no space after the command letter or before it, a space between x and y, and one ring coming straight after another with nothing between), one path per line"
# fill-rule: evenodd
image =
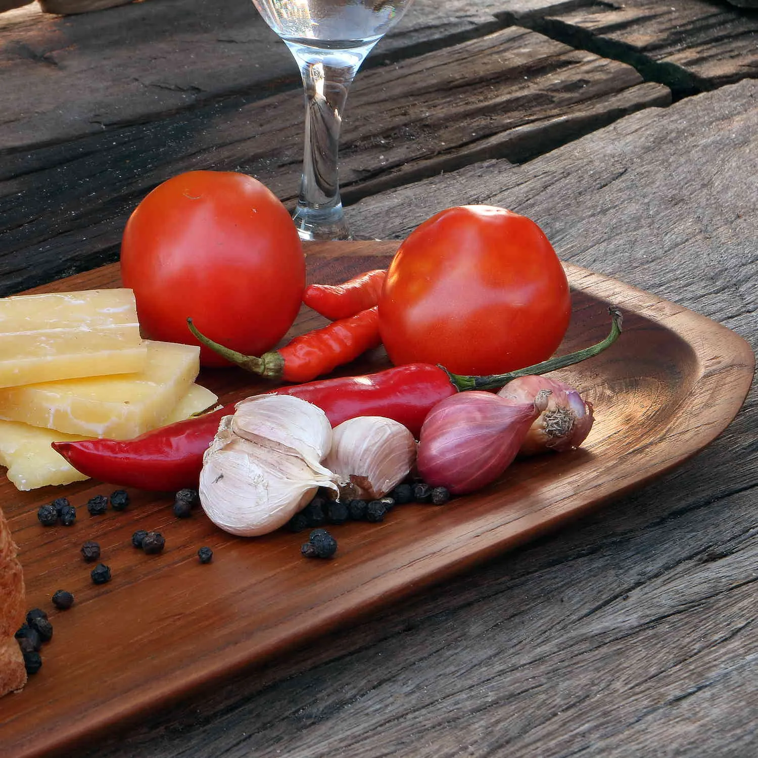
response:
M142 371L132 290L0 299L0 387Z

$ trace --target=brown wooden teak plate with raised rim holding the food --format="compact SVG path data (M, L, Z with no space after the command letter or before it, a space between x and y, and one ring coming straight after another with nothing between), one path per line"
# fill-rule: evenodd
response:
M344 280L386 265L396 246L309 246L309 277ZM713 440L750 387L750 346L672 302L565 268L574 315L562 352L607 334L609 304L624 313L615 345L560 373L594 403L597 421L583 448L517 462L493 486L444 507L398 506L381 524L334 527L340 547L330 561L303 559L303 534L245 539L219 531L202 512L178 520L165 495L135 490L125 512L92 517L86 501L114 487L83 482L18 493L4 481L2 503L20 547L28 603L49 611L55 635L43 648L41 672L23 692L0 700L3 756L70 750L201 685L370 617L650 481ZM117 267L109 266L40 290L117 284ZM319 318L303 309L294 331ZM343 373L387 365L378 350ZM266 387L237 369L207 372L201 381L227 400ZM61 495L78 508L76 525L43 528L37 508ZM135 550L136 529L161 531L164 553ZM90 581L92 567L79 552L85 540L101 544L109 584ZM203 545L214 550L209 565L196 557ZM74 593L69 611L52 609L58 589Z

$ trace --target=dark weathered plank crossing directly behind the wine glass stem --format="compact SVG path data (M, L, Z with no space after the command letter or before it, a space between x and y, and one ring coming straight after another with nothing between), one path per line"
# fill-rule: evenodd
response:
M340 169L348 201L482 151L511 160L543 152L629 111L666 104L669 91L641 84L625 64L512 27L366 71L351 98ZM302 139L302 96L283 92L6 155L0 292L114 260L139 199L181 171L245 171L293 199Z

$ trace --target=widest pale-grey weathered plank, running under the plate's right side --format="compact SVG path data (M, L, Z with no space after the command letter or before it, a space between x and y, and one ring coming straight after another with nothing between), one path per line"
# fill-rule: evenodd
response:
M366 199L351 221L402 236L449 205L506 205L562 257L758 346L756 96L744 82L633 114L522 166ZM756 428L753 389L645 490L91 754L754 755Z

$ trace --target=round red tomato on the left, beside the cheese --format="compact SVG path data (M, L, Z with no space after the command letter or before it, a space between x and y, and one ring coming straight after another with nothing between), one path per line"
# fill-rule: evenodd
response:
M197 344L186 319L246 355L290 328L305 289L305 258L287 208L262 183L189 171L162 183L131 215L121 278L147 337ZM227 365L203 347L204 365Z

